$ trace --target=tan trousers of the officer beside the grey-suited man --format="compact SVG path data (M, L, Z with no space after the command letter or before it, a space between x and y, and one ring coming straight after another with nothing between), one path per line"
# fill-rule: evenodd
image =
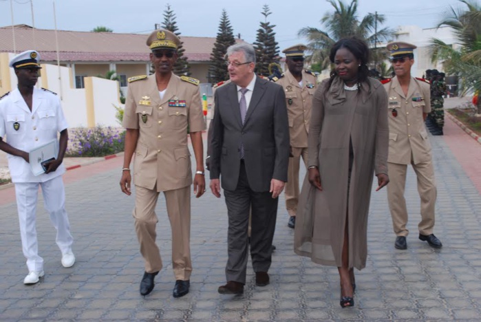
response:
M182 189L164 191L167 214L172 230L172 266L175 280L190 279L191 263L191 186ZM145 259L146 272L158 272L162 269L162 259L156 244L155 212L158 191L136 186L136 208L133 217L136 219L136 233L140 244L140 253Z

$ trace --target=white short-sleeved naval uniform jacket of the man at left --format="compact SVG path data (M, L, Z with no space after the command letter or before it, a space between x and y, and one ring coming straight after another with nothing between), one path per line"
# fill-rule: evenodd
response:
M32 111L18 88L0 100L0 138L16 149L30 152L57 140L58 132L64 129L67 129L67 120L63 116L60 98L52 92L34 87ZM35 176L30 164L10 154L8 167L12 182L45 182L65 173L62 163L52 173Z

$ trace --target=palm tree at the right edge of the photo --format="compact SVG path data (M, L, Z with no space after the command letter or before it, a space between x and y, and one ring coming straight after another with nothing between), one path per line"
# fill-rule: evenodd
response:
M448 74L458 75L463 94L472 90L481 93L481 6L475 0L460 0L467 9L453 8L445 12L438 28L449 26L456 36L456 47L440 39L431 39L431 59L442 61ZM478 99L478 114L481 100Z

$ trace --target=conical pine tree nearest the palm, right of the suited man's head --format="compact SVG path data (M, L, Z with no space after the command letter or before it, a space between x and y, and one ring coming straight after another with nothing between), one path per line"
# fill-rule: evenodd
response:
M261 22L261 28L257 30L257 39L254 43L256 72L262 76L269 76L269 64L279 61L279 46L275 41L275 25L271 25L267 21L267 17L271 13L269 6L262 7L261 14L264 16L264 22Z

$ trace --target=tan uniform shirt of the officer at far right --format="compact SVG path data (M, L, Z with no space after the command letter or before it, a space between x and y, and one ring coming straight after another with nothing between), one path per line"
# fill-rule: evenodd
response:
M389 157L387 162L414 164L431 160L423 113L431 111L429 84L411 77L407 96L398 78L385 83L388 96ZM411 158L412 156L412 158Z

